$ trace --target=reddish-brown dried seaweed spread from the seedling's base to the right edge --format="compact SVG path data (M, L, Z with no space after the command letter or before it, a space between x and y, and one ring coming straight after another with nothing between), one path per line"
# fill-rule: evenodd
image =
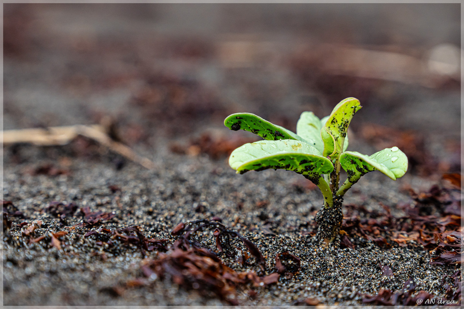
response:
M393 217L384 205L386 211L377 213L348 204L340 231L341 246L353 248L349 241L353 236L372 240L380 247L420 245L436 249L432 251L436 255L432 264L456 263L461 254L456 252L461 245L458 190L434 185L426 192L416 193L412 189L409 192L412 203L398 205L404 209L404 217ZM361 217L367 218L361 220Z

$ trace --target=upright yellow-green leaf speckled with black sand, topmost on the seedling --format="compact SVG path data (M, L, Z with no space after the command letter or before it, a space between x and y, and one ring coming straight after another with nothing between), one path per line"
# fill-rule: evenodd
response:
M348 147L348 143L345 145L348 126L360 108L361 103L355 98L346 98L334 107L321 130L321 138L324 142L322 154L324 156L337 157Z

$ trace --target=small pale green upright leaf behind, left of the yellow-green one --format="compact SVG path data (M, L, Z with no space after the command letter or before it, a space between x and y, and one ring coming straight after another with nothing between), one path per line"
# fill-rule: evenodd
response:
M324 150L321 129L321 120L313 112L303 112L296 123L296 134L305 139L309 145L316 147L320 152Z

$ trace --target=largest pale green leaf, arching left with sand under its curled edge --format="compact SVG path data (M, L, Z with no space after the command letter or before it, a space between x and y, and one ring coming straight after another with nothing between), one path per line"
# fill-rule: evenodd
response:
M322 157L316 148L292 139L260 140L242 145L232 151L229 165L240 174L249 170L284 169L314 179L334 170L330 160Z

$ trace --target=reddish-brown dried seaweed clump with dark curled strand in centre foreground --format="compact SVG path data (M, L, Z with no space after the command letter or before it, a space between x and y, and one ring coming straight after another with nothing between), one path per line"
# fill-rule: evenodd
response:
M236 253L233 239L240 240L248 251L255 257L261 272L265 270L265 261L258 247L238 232L228 230L218 221L197 220L179 223L171 234L179 235L167 253L161 253L158 259L146 259L142 262L141 270L145 277L156 278L167 275L174 283L187 290L197 290L204 296L216 296L231 304L238 304L237 289L251 284L253 287L264 287L278 281L280 274L273 272L266 276L258 276L255 271L236 272L226 266L210 249L203 247L192 234L203 229L213 230L216 246L219 252ZM239 262L245 264L248 254L241 252ZM282 262L281 259L284 261ZM276 261L283 273L289 274L299 271L300 259L284 252L277 255ZM277 265L276 265L277 267ZM248 290L251 297L256 296L255 290Z

